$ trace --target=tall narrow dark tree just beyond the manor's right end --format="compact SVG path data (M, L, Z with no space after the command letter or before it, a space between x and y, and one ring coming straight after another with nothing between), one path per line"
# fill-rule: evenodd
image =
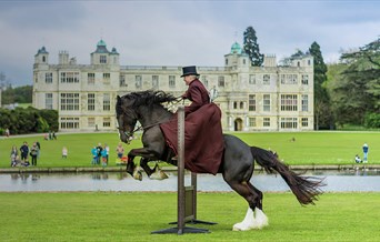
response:
M314 59L314 120L316 130L320 127L333 128L333 117L330 109L330 97L324 88L327 81L327 65L324 64L320 46L314 41L310 48L309 53Z

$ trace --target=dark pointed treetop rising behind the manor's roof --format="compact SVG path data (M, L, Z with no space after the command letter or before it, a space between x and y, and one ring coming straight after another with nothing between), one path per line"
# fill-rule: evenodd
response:
M260 67L263 62L263 54L260 53L258 38L252 27L248 27L244 31L243 50L249 56L252 65Z

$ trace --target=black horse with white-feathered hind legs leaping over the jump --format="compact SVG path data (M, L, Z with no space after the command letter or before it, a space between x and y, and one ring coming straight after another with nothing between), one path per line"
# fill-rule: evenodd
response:
M171 160L173 154L159 127L173 115L162 103L176 100L172 94L162 91L132 92L118 97L116 111L121 141L130 142L136 132L137 121L141 123L143 130L143 148L132 149L128 153L128 173L133 174L134 157L141 157L140 165L149 177L156 171L156 168L150 169L149 161L160 160L177 164L174 160ZM268 173L278 172L301 204L314 204L318 195L321 194L320 186L323 184L320 179L294 173L271 151L250 147L234 135L224 134L223 137L224 154L219 171L224 181L249 204L244 220L234 224L233 230L261 229L268 225L268 219L262 212L262 192L250 182L254 161Z

